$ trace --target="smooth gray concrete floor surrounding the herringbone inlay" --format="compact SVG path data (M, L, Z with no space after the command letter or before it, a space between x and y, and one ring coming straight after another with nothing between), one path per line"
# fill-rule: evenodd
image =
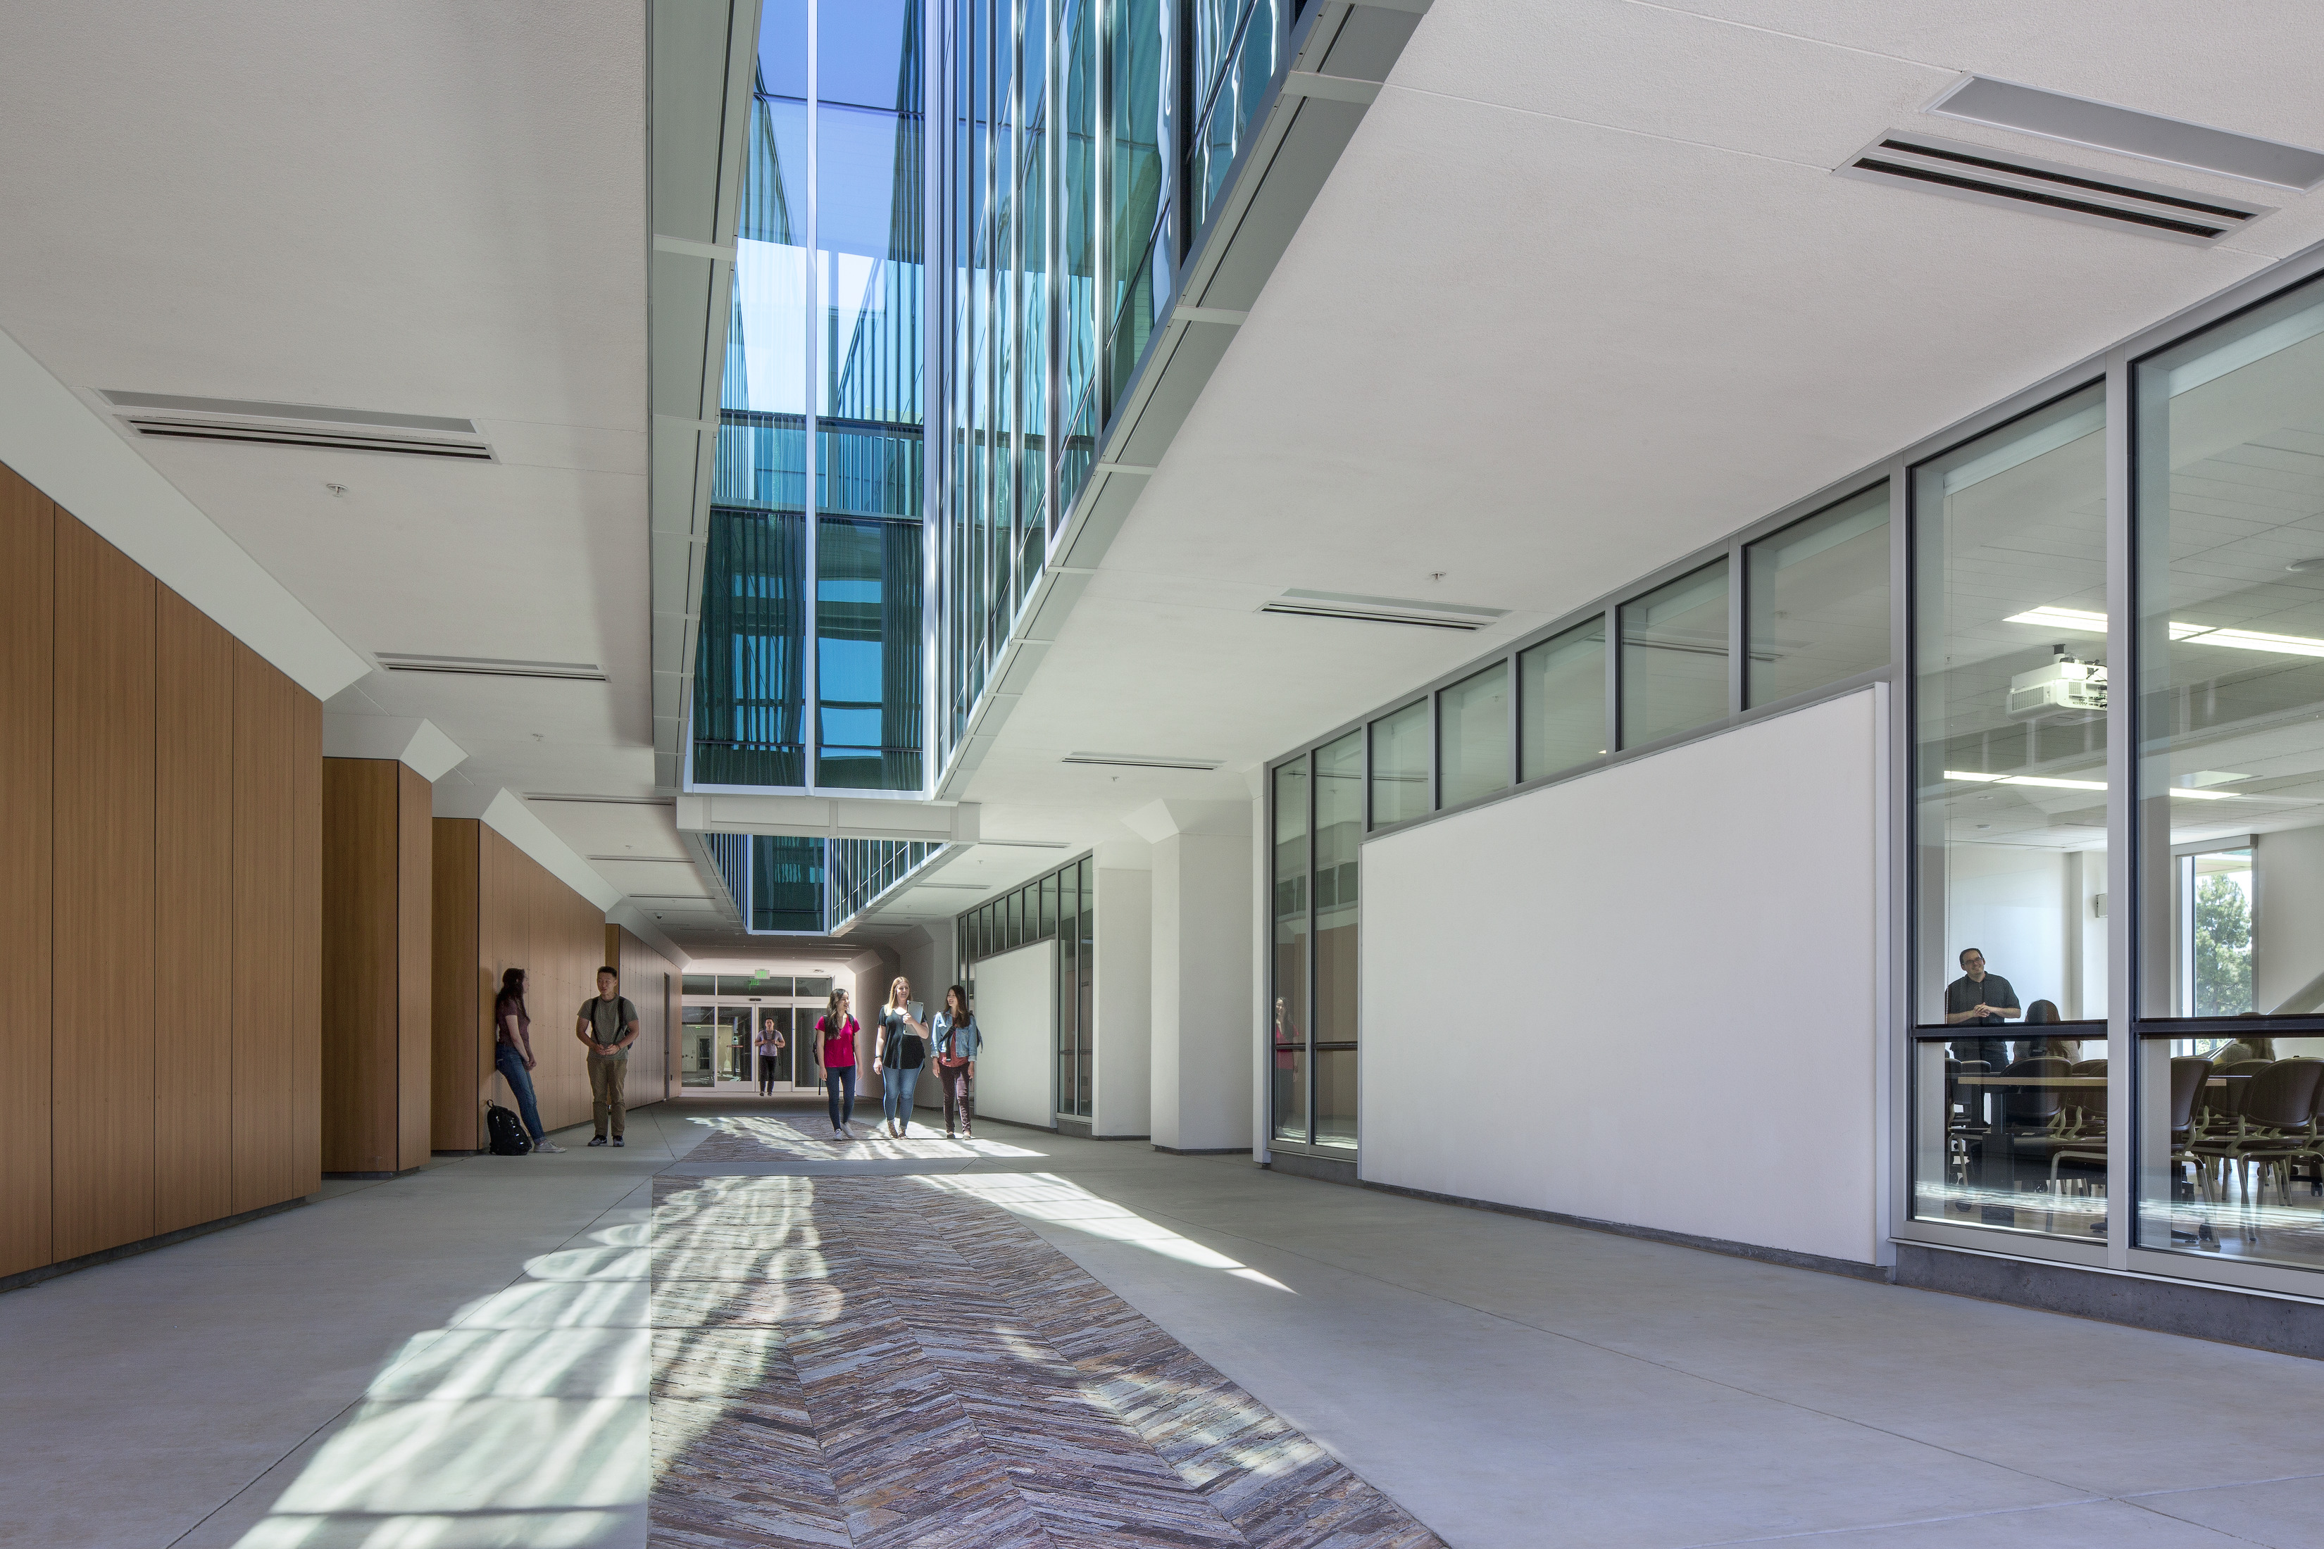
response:
M1006 1203L1459 1547L2324 1544L2312 1361L999 1124L686 1161L746 1108L0 1296L0 1544L641 1544L662 1170Z

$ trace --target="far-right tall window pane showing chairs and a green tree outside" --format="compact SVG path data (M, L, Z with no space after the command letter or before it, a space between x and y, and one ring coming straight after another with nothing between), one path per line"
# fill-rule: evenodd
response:
M2324 288L2133 392L2138 1242L2324 1268Z

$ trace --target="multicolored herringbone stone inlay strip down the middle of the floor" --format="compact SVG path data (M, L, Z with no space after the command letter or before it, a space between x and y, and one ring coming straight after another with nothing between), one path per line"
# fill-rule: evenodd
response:
M806 1150L776 1129L690 1161ZM658 1547L1441 1542L939 1180L658 1177L653 1324Z

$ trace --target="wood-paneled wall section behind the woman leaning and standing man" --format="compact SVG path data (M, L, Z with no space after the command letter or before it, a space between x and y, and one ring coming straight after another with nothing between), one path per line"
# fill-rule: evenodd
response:
M532 1091L541 1105L541 1124L586 1124L588 1064L574 1038L574 1020L581 1001L597 994L604 910L474 817L435 820L435 866L437 1150L486 1147L483 1103L497 1089L493 996L504 968L523 968L528 975L525 1003L537 1061ZM456 989L460 985L465 992ZM637 994L630 999L637 1001ZM639 1013L644 1015L644 1001ZM472 1075L460 1082L453 1071ZM637 1075L632 1064L632 1082ZM658 1096L658 1089L641 1091L637 1105ZM495 1101L507 1103L509 1096L500 1091Z

